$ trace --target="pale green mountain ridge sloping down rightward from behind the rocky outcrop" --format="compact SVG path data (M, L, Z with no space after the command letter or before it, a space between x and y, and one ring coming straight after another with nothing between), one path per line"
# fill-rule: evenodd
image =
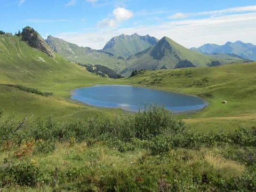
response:
M80 47L63 39L48 36L46 42L52 49L67 60L91 65L103 65L116 71L124 66L124 60L118 59L111 53L102 50L94 50L89 47Z

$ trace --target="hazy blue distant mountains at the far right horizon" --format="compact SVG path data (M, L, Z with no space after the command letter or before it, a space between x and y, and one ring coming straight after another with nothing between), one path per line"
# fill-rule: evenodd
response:
M256 46L251 43L243 43L241 41L236 41L235 43L227 42L224 45L205 44L198 48L193 47L191 50L206 54L235 54L244 59L256 61Z

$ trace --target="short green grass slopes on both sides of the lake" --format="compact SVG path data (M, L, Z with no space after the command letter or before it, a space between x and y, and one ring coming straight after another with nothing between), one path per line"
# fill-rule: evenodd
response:
M21 84L53 92L52 97L46 98L14 87L0 86L0 103L9 113L43 117L51 114L59 119L83 118L84 115L95 113L113 115L113 111L119 114L119 109L95 108L70 102L70 91L76 87L95 84L134 84L201 95L210 101L210 105L204 110L189 114L193 119L186 120L199 130L205 130L209 125L210 130L218 131L224 127L233 130L233 125L255 123L255 63L147 71L133 78L114 80L87 73L84 68L63 60L58 54L53 60L46 54L31 49L26 42L15 36L1 35L0 50L1 83ZM209 82L202 81L205 77L209 78ZM207 98L209 93L214 98ZM223 99L228 100L228 105L221 104ZM185 118L188 115L180 116ZM230 119L231 116L239 118ZM220 122L220 117L226 119L221 119Z

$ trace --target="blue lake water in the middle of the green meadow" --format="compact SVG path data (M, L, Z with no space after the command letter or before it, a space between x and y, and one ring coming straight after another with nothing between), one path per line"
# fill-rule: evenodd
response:
M207 103L193 95L146 89L130 85L95 85L76 89L71 99L87 105L138 111L145 104L164 106L174 113L202 109Z

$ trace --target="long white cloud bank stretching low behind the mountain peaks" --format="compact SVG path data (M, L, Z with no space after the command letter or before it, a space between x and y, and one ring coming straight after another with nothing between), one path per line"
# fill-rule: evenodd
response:
M120 34L151 35L157 38L164 36L188 48L204 43L223 44L227 41L241 40L256 44L256 13L225 15L205 19L186 19L170 21L156 26L138 26L125 29L102 29L93 33L60 34L58 37L80 46L94 49L102 47L113 36Z

